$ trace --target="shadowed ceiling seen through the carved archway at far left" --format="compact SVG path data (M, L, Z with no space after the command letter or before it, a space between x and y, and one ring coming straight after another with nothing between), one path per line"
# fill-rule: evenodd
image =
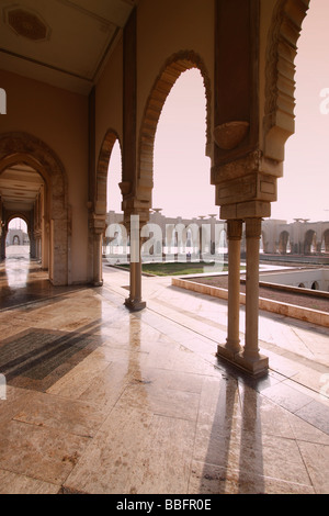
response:
M8 168L0 176L0 199L8 211L29 212L44 184L38 172L26 165Z

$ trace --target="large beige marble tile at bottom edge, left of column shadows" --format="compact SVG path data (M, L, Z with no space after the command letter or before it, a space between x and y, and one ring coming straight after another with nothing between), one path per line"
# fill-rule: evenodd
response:
M186 419L136 408L118 414L115 408L64 489L92 494L184 493L193 428Z

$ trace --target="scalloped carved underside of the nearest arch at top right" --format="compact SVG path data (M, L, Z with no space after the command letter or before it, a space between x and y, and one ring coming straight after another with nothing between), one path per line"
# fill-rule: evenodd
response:
M295 57L309 0L277 0L269 31L265 65L264 154L283 161L295 132Z

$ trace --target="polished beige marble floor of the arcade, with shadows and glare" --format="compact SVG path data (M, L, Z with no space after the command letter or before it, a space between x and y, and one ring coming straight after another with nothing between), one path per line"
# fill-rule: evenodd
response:
M145 278L131 314L127 284L0 266L0 493L328 493L328 332L261 313L253 380L215 357L225 302Z

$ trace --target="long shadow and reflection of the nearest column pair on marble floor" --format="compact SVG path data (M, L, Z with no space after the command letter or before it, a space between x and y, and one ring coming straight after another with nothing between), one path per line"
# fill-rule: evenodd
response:
M264 493L259 393L243 378L224 375L211 395L214 419L203 434L207 449L200 492Z

